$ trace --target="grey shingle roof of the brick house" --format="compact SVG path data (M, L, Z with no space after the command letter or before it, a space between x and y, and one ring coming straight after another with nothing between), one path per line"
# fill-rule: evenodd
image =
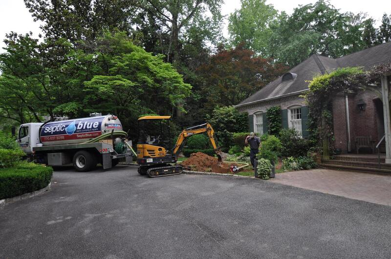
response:
M281 76L236 106L243 106L263 100L278 99L279 97L306 91L308 90L308 81L312 80L314 76L330 73L338 67L362 66L364 69L369 69L376 64L386 62L391 62L391 41L339 59L312 55L289 70L289 72L297 74L296 79L282 81Z

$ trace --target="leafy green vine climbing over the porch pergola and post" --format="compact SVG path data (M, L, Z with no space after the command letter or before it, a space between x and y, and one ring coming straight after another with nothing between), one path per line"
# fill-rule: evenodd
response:
M368 71L360 67L346 67L310 81L309 91L304 94L309 108L309 131L322 146L325 159L328 159L334 147L331 101L339 93L361 90L372 90L382 98L379 90L381 76L390 72L391 63L378 65Z

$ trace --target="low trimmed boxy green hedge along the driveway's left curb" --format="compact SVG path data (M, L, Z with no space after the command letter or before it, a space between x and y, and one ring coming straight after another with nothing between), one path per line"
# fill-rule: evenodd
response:
M23 162L0 169L0 199L30 193L46 187L53 175L51 167Z

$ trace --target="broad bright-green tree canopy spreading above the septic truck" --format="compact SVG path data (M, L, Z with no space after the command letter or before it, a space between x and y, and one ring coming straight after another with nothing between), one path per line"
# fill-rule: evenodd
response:
M190 94L191 86L162 55L135 46L126 33L106 33L93 46L80 41L80 48L65 39L38 43L16 34L6 43L0 117L21 123L102 112L121 116L130 127L140 113L171 112Z

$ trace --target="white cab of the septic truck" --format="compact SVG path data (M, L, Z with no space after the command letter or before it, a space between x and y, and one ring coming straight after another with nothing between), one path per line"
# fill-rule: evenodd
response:
M32 154L33 148L41 143L40 127L42 124L43 123L24 123L19 128L18 139L16 141L27 155Z

